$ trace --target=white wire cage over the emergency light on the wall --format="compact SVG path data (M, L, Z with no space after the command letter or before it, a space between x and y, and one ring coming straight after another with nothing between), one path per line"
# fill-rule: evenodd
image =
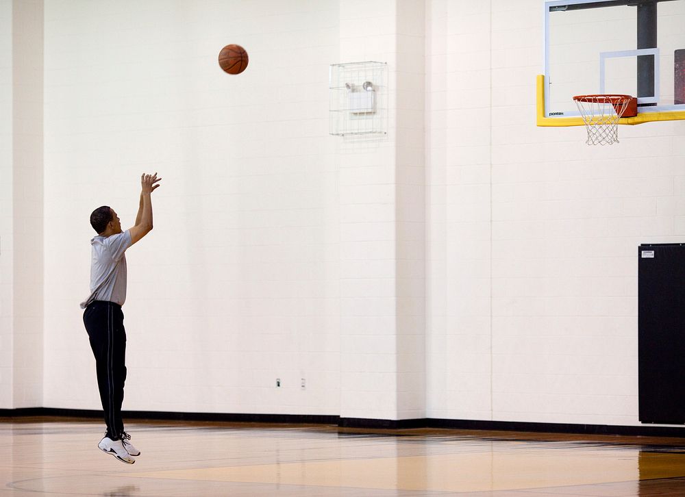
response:
M388 64L332 64L329 75L330 134L388 133Z

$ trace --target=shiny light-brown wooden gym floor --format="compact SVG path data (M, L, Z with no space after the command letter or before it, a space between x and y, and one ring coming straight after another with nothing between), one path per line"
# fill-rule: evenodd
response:
M685 439L337 426L0 419L0 496L685 496Z

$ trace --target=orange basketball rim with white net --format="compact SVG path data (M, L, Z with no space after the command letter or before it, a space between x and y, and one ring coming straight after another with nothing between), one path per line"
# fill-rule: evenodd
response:
M630 95L576 95L573 97L588 130L588 145L619 142L619 119L637 115L637 99Z

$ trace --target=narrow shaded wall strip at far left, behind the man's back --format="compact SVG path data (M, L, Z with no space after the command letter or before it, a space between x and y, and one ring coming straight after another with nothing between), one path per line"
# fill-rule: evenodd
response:
M42 405L43 1L12 3L12 406Z

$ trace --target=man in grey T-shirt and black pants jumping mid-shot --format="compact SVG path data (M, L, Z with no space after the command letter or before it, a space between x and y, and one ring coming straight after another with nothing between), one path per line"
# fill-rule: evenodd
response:
M90 214L90 225L97 236L90 240L90 296L81 303L84 324L95 355L97 385L105 415L107 432L98 448L127 464L140 455L124 431L121 404L126 380L126 332L121 306L126 300L125 251L152 230L152 192L162 178L142 175L140 207L136 225L121 231L121 221L114 209L103 205Z

